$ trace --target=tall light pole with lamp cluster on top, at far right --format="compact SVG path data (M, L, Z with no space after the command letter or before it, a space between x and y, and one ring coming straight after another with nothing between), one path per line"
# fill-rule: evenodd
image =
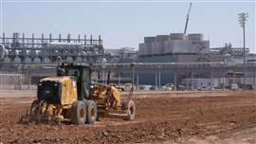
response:
M248 17L248 12L242 12L238 14L238 22L241 27L243 27L244 34L244 91L246 91L246 21Z

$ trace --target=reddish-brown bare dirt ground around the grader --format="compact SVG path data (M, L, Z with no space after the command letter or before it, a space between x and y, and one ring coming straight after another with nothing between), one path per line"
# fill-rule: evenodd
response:
M27 95L33 94L0 91L0 144L256 143L256 92L143 92L136 95L135 121L20 124L19 117L34 99Z

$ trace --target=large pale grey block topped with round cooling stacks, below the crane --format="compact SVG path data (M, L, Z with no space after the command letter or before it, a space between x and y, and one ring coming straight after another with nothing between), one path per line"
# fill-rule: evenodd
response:
M197 55L208 53L209 50L210 41L204 40L203 34L171 33L170 35L145 37L144 43L139 44L138 56Z

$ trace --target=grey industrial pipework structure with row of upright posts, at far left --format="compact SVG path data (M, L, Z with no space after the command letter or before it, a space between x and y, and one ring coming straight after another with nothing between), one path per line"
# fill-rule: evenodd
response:
M58 38L54 38L49 34L46 38L44 34L41 37L35 37L34 34L26 37L24 33L14 32L12 37L3 33L0 45L0 63L55 63L57 56L61 56L64 62L101 63L104 57L101 36L97 39L92 35L89 38L86 35L71 38L67 34L63 38L59 34Z

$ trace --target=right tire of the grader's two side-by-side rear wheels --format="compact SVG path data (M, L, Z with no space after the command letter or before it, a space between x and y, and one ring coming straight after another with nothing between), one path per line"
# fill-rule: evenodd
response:
M86 123L93 124L97 119L97 105L93 100L86 100L85 105L87 110Z

